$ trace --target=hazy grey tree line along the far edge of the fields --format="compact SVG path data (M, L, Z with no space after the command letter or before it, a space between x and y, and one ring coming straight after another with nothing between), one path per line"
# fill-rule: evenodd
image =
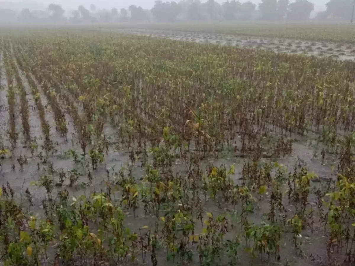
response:
M350 20L353 0L330 0L326 11L317 14L317 19L329 18ZM227 0L219 4L215 0L155 1L152 9L130 5L128 9L89 9L80 5L76 10L66 12L60 5L50 4L46 11L23 9L19 14L0 9L2 20L22 23L112 23L112 22L176 22L176 21L237 21L237 20L307 20L314 5L308 0L262 0L255 5L251 1ZM0 19L1 22L1 19Z

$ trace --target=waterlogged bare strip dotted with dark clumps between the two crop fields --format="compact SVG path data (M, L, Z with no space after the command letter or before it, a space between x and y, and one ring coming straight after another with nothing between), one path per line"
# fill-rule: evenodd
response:
M306 41L297 39L259 38L225 34L204 34L195 32L166 31L154 29L103 29L104 31L145 35L171 40L195 43L230 45L251 49L271 50L288 54L332 57L338 60L355 61L355 45L326 41Z

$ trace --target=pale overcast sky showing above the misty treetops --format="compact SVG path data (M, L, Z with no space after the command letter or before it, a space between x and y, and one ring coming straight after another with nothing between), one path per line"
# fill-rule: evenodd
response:
M150 9L153 7L155 0L0 0L0 8L1 7L10 7L16 6L20 7L33 7L35 9L39 9L40 6L42 8L47 7L50 3L60 4L64 9L76 9L78 5L83 5L89 8L90 4L96 5L98 8L107 8L111 9L112 7L121 8L128 7L129 5L139 5L143 8ZM176 0L175 0L176 1ZM179 0L177 0L179 1ZM201 0L201 2L206 2L207 0ZM225 0L216 0L217 2L224 2ZM246 0L240 0L244 2ZM258 4L261 0L251 0L253 3ZM294 0L290 0L294 2ZM324 10L324 5L329 0L309 0L315 4L315 11ZM8 6L9 5L9 6ZM22 9L21 8L21 9Z

